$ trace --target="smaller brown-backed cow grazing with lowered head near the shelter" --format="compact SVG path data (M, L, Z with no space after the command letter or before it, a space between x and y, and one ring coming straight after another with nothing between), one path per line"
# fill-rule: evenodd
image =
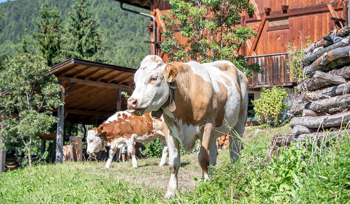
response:
M160 138L163 148L159 166L163 166L168 155L166 136L168 127L163 118L156 119L150 113L138 117L126 111L119 111L108 118L102 125L87 131L86 153L92 154L105 149L107 143L111 146L105 168L110 168L113 155L117 149L127 145L127 151L132 158L132 167L137 168L134 141L147 143Z

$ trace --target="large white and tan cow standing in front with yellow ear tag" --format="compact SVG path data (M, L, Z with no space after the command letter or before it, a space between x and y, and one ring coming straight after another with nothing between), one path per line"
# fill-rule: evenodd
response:
M143 115L162 108L170 130L171 175L166 197L174 195L177 189L179 143L189 152L196 140L201 140L198 161L206 180L209 164L216 164L215 138L231 130L243 136L248 105L246 76L229 61L165 64L159 56L148 55L140 63L134 80L136 87L128 99L128 112ZM175 82L170 83L173 80ZM171 88L175 91L170 92ZM229 140L232 162L237 160L241 150L238 138L232 134Z

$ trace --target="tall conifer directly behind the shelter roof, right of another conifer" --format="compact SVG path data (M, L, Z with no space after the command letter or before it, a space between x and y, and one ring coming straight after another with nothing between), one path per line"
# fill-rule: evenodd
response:
M107 47L98 29L99 24L95 20L95 13L90 12L90 3L86 0L76 0L69 16L69 34L63 57L105 62L102 60L102 55Z

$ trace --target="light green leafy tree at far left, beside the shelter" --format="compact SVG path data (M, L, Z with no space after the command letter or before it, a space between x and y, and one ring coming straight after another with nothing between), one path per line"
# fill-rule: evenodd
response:
M0 119L5 124L0 135L19 147L31 166L40 140L35 134L49 132L56 122L51 110L62 104L58 80L47 75L50 68L38 53L21 53L3 62L0 69L0 114L7 116Z

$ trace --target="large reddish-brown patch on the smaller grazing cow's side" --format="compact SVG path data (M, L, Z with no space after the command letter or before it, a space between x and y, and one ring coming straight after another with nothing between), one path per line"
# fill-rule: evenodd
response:
M155 134L156 130L153 128L151 113L145 113L145 117L134 114L129 116L125 113L121 115L122 117L118 118L118 120L111 121L109 124L103 123L99 127L95 127L96 129L92 129L100 133L107 142L123 136L129 139L133 134L138 136ZM102 133L101 130L103 130Z

